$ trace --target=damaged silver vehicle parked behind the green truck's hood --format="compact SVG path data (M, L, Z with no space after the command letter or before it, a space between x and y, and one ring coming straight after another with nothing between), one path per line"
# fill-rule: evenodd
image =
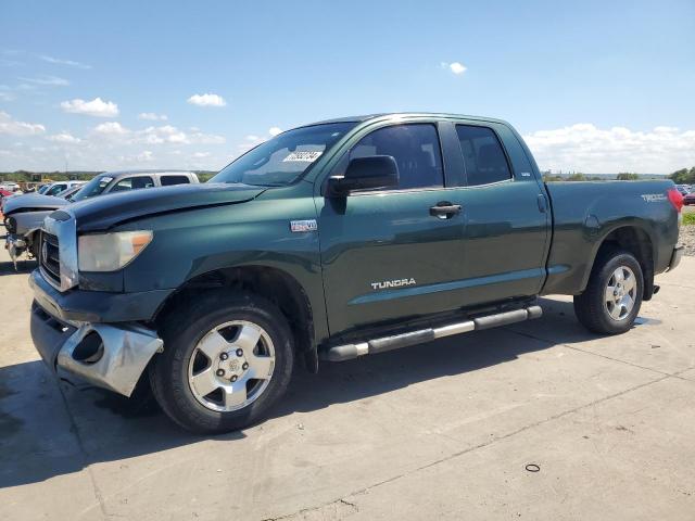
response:
M38 256L38 230L51 212L77 201L97 195L199 182L192 171L125 170L100 174L89 182L59 181L41 193L27 193L12 198L3 204L4 226L8 230L5 250L16 267L17 259L27 254ZM67 187L67 185L72 185ZM58 193L58 195L55 195Z

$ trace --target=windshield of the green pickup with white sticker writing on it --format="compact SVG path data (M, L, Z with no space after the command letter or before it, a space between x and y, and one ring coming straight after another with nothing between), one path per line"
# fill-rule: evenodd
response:
M355 123L330 123L288 130L227 165L210 182L290 185L354 126Z

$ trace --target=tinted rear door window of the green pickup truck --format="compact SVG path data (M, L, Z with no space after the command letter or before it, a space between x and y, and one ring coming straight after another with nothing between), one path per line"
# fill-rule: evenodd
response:
M488 127L456 125L469 187L511 179L511 170L495 132Z

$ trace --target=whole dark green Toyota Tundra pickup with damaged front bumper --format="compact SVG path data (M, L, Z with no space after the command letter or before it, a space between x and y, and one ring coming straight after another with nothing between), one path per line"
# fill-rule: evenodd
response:
M298 361L536 318L539 295L622 333L681 258L681 206L667 180L545 185L498 119L321 122L207 183L53 212L31 335L61 378L126 396L149 380L174 421L225 432L262 419Z

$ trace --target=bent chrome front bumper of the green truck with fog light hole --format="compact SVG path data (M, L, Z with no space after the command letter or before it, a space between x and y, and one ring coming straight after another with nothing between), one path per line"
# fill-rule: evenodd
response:
M137 322L65 322L37 302L31 305L31 339L59 378L130 396L163 342Z

